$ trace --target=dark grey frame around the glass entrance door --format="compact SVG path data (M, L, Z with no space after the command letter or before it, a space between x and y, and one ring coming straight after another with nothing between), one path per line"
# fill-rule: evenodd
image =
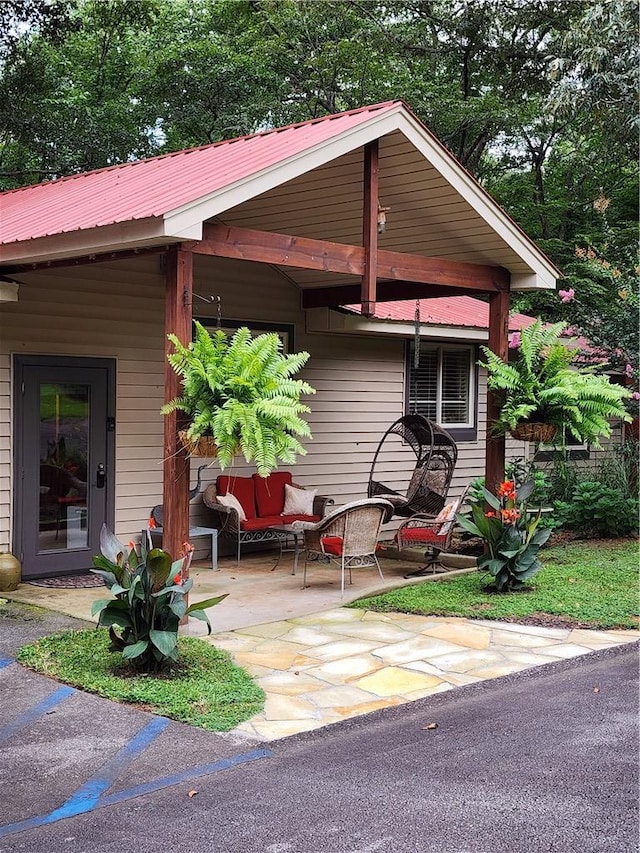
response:
M116 360L115 358L92 358L84 356L59 356L59 355L22 355L14 354L12 358L13 368L13 525L12 543L16 548L21 542L21 531L24 524L23 500L22 500L22 477L20 476L20 448L18 446L24 435L25 410L22 403L24 390L25 367L45 368L92 368L105 371L107 392L107 423L105 423L106 434L106 522L111 530L115 525L115 424L116 424Z

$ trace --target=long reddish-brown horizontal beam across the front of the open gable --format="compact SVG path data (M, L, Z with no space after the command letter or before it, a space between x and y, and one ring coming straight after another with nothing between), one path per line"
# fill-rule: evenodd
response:
M205 239L183 244L195 254L220 258L298 267L362 277L364 248L310 237L294 237L271 231L205 224ZM467 264L447 258L425 258L403 252L377 252L377 277L417 284L465 287L481 293L496 293L509 287L503 267ZM359 301L359 300L355 300Z

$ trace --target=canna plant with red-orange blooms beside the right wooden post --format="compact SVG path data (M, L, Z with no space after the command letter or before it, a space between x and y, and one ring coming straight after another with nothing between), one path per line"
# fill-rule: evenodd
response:
M537 513L527 512L527 501L534 489L533 480L518 489L515 482L506 480L495 495L483 488L481 494L467 499L471 518L456 516L460 527L484 540L486 553L478 559L478 568L494 577L498 592L523 589L525 581L542 568L538 552L551 529L540 528L540 509Z

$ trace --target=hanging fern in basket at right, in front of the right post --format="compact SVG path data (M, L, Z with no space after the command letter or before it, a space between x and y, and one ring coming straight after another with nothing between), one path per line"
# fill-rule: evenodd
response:
M556 431L567 431L599 447L599 439L611 435L611 418L631 420L624 406L630 392L597 375L596 366L577 365L580 350L561 340L565 327L537 320L522 330L508 362L482 347L479 364L488 371L489 388L502 398L495 432L549 443Z

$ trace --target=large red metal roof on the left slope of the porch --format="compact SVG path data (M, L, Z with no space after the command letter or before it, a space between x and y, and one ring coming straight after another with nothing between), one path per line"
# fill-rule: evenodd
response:
M349 131L399 101L0 194L0 243L163 216Z

